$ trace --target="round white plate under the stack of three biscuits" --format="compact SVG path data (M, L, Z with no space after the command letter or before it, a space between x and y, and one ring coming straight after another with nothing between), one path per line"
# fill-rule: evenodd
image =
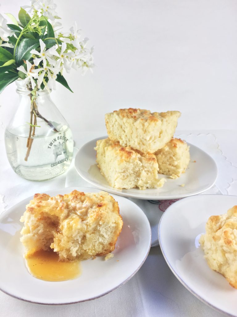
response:
M94 150L97 140L105 139L106 136L94 139L84 144L76 154L75 167L79 175L90 184L120 196L148 200L177 199L200 194L215 183L217 178L217 166L215 161L203 150L190 145L190 164L184 174L177 179L167 179L162 188L140 190L138 188L116 189L111 187L104 176L101 175L96 165L96 151ZM193 161L196 161L193 162ZM185 184L184 187L180 186Z

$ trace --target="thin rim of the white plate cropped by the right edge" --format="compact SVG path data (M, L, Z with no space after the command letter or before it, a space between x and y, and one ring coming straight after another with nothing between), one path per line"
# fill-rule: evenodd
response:
M171 263L168 261L167 259L167 256L166 256L166 253L163 249L163 246L162 246L162 242L161 242L161 238L160 238L160 227L161 227L161 221L162 221L162 218L165 216L165 213L167 212L168 209L170 209L174 204L176 203L181 203L181 201L183 199L192 199L193 197L198 197L199 195L193 195L193 196L189 196L189 197L185 197L185 198L182 198L176 202L174 202L172 205L170 205L166 210L165 212L163 213L163 215L161 216L161 219L160 219L160 222L159 222L159 225L158 225L158 240L159 240L159 245L160 245L160 248L161 248L161 252L162 252L162 255L168 265L168 267L170 268L170 270L172 271L173 275L178 279L178 281L191 293L193 294L195 297L197 297L197 299L199 299L200 301L202 301L204 304L208 305L209 307L215 309L216 311L218 311L219 313L222 313L222 314L225 314L226 316L229 316L229 317L236 317L236 315L232 315L230 313L227 313L225 312L224 310L220 309L220 308L217 308L216 306L214 306L213 304L211 304L210 302L208 302L207 300L205 300L203 297L201 297L199 294L197 294L196 292L194 292L186 283L185 281L182 280L181 277L179 277L179 275L175 272L174 268L172 267ZM201 197L202 195L200 195ZM235 195L221 195L221 194L207 194L207 195L203 195L204 197L208 197L208 196L228 196L228 197L236 197Z

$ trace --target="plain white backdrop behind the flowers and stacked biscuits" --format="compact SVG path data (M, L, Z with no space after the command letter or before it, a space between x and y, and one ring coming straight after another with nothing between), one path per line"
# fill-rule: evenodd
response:
M17 15L28 3L2 0L0 12ZM65 77L74 94L60 84L52 92L75 139L105 132L104 114L122 107L179 110L179 130L236 129L236 0L56 3L64 31L76 21L95 45L94 74L72 70ZM17 99L15 83L1 94L4 125Z

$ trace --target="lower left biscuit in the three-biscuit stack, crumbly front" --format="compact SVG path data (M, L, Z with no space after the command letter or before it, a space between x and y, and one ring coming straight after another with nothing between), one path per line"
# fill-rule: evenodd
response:
M153 154L120 146L110 139L98 140L95 150L100 172L114 188L158 188L165 182L164 178L158 178L158 164Z

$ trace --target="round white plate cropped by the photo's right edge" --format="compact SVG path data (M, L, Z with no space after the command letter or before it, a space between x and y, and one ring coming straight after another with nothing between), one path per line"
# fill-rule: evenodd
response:
M199 247L199 237L212 215L237 205L237 196L200 195L171 205L161 217L161 251L178 280L198 299L229 316L237 316L237 289L211 270Z

